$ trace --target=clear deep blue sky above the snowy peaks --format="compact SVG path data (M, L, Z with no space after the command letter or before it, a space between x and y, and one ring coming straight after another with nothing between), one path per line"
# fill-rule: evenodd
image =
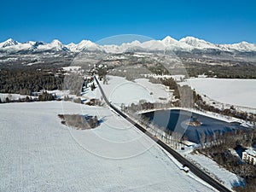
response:
M67 44L140 34L256 44L255 0L2 0L0 7L0 42L57 38Z

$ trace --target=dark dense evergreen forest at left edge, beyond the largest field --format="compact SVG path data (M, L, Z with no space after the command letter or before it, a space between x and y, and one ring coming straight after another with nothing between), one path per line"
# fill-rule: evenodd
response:
M0 70L0 92L31 96L40 90L62 90L64 74L57 69Z

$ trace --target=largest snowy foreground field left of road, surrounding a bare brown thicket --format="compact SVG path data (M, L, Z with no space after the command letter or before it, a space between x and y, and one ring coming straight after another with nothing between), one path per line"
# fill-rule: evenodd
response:
M63 112L97 114L103 123L74 130L61 125ZM0 191L212 190L108 108L9 103L0 113Z

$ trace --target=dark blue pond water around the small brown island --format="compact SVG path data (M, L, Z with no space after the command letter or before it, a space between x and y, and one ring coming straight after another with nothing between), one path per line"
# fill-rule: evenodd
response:
M143 113L151 122L159 127L165 127L171 131L177 131L189 138L189 141L200 143L201 134L213 135L214 132L228 132L239 129L246 129L239 123L228 123L223 120L213 119L198 113L191 113L185 110L172 109ZM188 125L189 122L198 119L199 126Z

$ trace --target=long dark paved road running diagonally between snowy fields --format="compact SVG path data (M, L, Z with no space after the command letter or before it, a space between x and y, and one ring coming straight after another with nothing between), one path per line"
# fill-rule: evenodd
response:
M95 77L96 79L96 77ZM212 185L212 187L214 187L215 189L218 189L219 191L224 191L224 192L230 192L230 189L227 189L226 187L224 187L224 185L222 185L221 183L218 183L218 181L216 181L215 179L213 179L212 177L210 177L209 175L207 175L206 172L201 171L201 169L199 169L197 166L195 166L193 163L191 163L189 160L185 159L181 154L178 154L177 151L175 151L174 149L170 148L168 145L166 145L166 143L163 143L162 141L160 141L159 139L157 139L156 137L154 137L151 133L149 133L146 129L143 128L143 126L138 125L136 122L134 122L131 118L129 118L125 113L122 113L118 108L115 108L109 101L107 96L105 95L104 91L102 90L102 86L101 84L99 84L98 79L96 79L96 83L98 84L99 89L102 92L102 97L104 98L105 102L107 102L108 106L110 108L112 108L116 113L119 113L119 115L121 115L122 117L124 117L126 120L128 120L129 122L131 122L132 125L136 126L137 129L139 129L140 131L143 131L143 133L145 133L148 137L150 137L151 139L154 140L154 142L158 143L162 148L165 148L166 151L170 154L172 154L172 156L178 160L182 165L186 165L189 167L190 172L193 172L197 177L200 177L202 180L204 180L205 182L209 183L210 185Z

